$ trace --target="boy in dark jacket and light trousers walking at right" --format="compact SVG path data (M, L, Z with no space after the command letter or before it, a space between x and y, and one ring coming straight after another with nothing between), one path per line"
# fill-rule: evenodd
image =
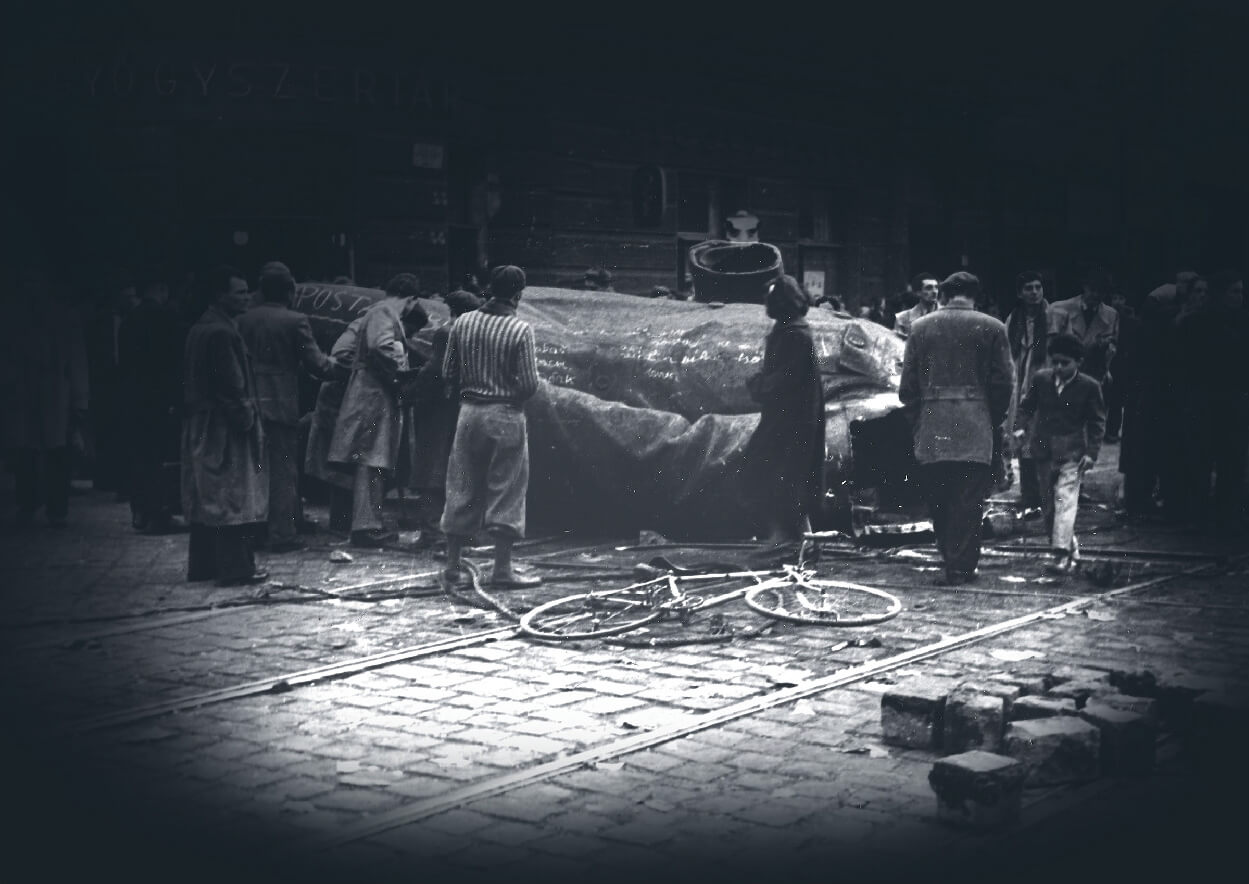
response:
M1033 422L1033 456L1040 479L1040 506L1045 514L1054 561L1045 571L1068 574L1079 561L1075 511L1080 479L1097 462L1105 432L1102 385L1079 372L1084 345L1074 335L1052 335L1049 368L1038 371L1019 403Z

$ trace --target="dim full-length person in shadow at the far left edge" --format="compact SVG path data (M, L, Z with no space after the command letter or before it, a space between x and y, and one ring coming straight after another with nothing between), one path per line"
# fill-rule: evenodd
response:
M0 348L0 432L17 492L17 528L42 503L54 527L70 504L70 440L87 417L87 356L81 320L41 270L20 278L12 335ZM42 488L40 488L42 484Z

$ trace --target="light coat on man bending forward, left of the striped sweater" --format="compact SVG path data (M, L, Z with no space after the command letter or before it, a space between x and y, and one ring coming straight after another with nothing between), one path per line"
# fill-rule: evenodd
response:
M403 298L378 301L363 316L356 358L330 442L330 462L395 469L398 463L402 411L395 385L407 370Z

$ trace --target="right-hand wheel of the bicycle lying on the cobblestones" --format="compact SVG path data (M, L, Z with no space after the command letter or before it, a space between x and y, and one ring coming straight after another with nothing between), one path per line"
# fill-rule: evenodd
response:
M902 611L902 602L884 589L846 581L768 581L742 601L758 614L803 626L874 626Z

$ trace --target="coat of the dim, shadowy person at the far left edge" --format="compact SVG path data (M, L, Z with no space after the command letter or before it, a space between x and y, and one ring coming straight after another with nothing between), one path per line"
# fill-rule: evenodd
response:
M0 348L0 438L5 448L64 448L87 408L86 338L77 313L32 292Z

